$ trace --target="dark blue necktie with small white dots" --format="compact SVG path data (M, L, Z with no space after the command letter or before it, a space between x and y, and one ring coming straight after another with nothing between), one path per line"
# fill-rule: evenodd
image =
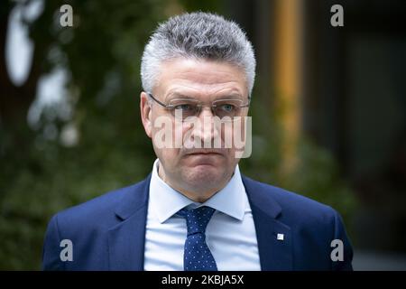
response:
M206 227L214 209L203 206L195 210L182 209L178 215L186 219L188 237L185 241L183 268L185 271L217 271L216 261L206 244Z

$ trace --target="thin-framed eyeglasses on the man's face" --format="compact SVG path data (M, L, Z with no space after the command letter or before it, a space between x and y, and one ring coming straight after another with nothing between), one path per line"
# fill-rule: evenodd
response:
M205 107L200 101L193 98L175 98L171 99L168 104L162 103L154 98L151 93L148 96L156 103L171 112L173 117L180 117L180 120L185 121L187 117L198 117L201 108ZM211 112L213 116L219 117L222 121L233 121L235 117L242 117L243 109L250 106L251 98L248 102L242 99L218 99L211 103Z

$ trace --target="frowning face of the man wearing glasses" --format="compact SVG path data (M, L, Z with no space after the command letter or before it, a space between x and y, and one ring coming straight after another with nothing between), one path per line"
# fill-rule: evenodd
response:
M162 63L152 95L163 104L179 98L200 101L203 104L197 116L200 124L213 121L214 116L208 106L215 100L231 98L248 103L244 70L216 61L175 59ZM165 182L194 200L205 200L226 185L239 161L235 157L234 145L230 148L224 144L225 137L235 134L231 129L221 129L215 125L198 127L176 120L170 110L152 101L144 92L140 106L143 126L146 134L152 138L155 153L160 159L160 176ZM247 112L248 108L240 110L242 117L246 117ZM161 137L156 137L162 130L161 126L156 127L160 117L170 120L173 141L177 137L175 131L180 132L181 147L161 147L157 143L161 140ZM230 124L227 126L231 127ZM215 139L221 140L220 148L213 148ZM210 143L211 148L205 148L204 142ZM193 145L197 143L201 143L201 148Z

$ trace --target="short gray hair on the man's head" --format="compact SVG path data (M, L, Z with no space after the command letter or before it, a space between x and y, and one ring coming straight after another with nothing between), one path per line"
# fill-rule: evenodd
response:
M180 14L161 23L143 51L143 89L152 92L161 62L178 57L226 61L242 68L251 96L255 78L254 50L237 23L203 12Z

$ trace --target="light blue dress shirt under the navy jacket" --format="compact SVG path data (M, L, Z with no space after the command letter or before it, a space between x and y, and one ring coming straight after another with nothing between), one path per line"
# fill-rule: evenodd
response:
M153 163L145 232L144 270L183 271L186 220L180 209L216 209L206 229L206 242L219 271L261 270L254 219L238 165L230 182L204 203L173 190Z

